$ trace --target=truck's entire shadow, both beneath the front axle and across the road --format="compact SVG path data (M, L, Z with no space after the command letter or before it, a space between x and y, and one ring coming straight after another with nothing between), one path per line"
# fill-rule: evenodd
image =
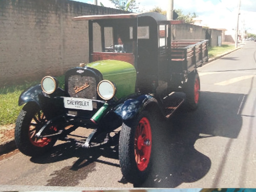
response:
M186 112L182 107L169 120L158 120L157 132L154 132L151 174L143 184L134 187L174 188L202 179L209 172L211 159L196 150L195 142L198 139L206 139L207 142L207 137L215 136L237 138L242 126L241 111L245 101L246 95L243 94L201 92L197 111ZM82 170L87 172L90 167L93 170L95 162L119 167L118 161L102 161L99 158L101 156L118 160L118 138L110 146L89 149L72 142L60 143L44 156L30 160L46 164L77 157L68 166L74 174ZM56 174L63 175L62 170L59 171ZM49 182L54 185L52 181ZM126 183L122 178L116 182Z

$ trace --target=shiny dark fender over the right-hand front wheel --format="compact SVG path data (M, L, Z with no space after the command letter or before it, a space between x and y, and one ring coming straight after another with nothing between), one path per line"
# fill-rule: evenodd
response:
M159 107L157 99L153 96L148 94L140 95L136 98L127 99L122 104L117 105L114 112L120 116L122 120L130 120L151 104Z

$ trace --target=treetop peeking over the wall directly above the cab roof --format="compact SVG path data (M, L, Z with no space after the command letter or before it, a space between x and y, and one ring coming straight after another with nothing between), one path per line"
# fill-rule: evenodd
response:
M124 11L138 12L139 11L139 3L137 5L136 0L109 0L112 2L117 9L121 9Z

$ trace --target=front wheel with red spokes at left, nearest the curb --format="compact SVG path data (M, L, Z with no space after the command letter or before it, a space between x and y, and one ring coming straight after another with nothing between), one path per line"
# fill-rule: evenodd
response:
M35 103L27 103L20 111L15 126L15 143L20 152L27 156L38 156L48 151L57 138L35 138L35 134L47 122L44 113ZM47 134L56 133L57 127L50 127Z

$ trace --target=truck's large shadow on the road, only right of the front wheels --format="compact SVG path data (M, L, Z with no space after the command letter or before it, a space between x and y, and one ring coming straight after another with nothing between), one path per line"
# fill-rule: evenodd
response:
M185 112L183 106L168 121L158 123L161 133L155 143L151 175L135 187L174 188L202 179L209 172L211 159L195 149L195 142L215 136L237 138L245 101L243 94L201 92L197 111Z

